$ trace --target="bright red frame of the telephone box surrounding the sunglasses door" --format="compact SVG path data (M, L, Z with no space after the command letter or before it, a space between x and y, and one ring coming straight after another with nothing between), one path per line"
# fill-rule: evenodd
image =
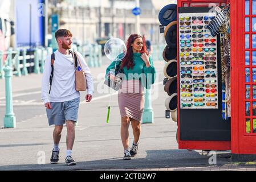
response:
M177 7L205 7L209 3L225 6L229 0L178 0ZM248 5L249 8L246 7ZM255 23L254 27L253 23ZM230 29L231 141L180 140L180 93L178 92L177 120L178 148L180 149L231 150L234 155L256 154L256 111L253 110L253 105L256 105L256 80L253 80L254 71L256 73L256 57L253 60L254 53L256 56L256 44L253 44L254 38L256 40L256 6L254 12L253 0L232 0L230 2ZM249 40L246 40L248 38ZM179 60L178 50L177 45L177 60ZM246 58L246 55L250 55L250 59ZM179 74L179 68L177 69ZM248 73L250 79L246 80ZM179 83L179 76L177 79ZM250 106L249 111L246 110L246 105ZM246 131L246 122L247 128L250 126L249 131L248 129Z

